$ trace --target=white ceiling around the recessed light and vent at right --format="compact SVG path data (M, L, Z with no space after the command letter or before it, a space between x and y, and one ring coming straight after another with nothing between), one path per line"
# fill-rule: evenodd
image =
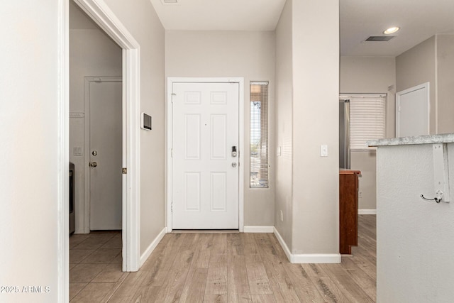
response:
M392 56L437 33L454 33L454 0L340 0L341 55ZM389 42L362 42L392 26Z

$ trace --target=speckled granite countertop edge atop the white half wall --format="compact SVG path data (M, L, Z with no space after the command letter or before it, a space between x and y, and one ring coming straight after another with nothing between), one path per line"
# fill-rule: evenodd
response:
M454 143L454 133L442 133L438 135L389 138L367 141L367 145L371 147L388 145L436 144L436 143Z

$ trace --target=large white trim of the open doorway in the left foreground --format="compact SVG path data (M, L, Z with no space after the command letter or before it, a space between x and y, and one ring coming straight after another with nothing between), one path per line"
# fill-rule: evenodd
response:
M122 269L137 271L140 268L140 45L103 0L74 2L123 48L122 164L128 173L122 177Z

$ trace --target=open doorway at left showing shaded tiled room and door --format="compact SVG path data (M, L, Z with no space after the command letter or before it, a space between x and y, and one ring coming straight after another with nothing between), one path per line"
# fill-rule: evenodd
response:
M118 44L73 1L69 31L72 299L81 285L123 266L123 60Z

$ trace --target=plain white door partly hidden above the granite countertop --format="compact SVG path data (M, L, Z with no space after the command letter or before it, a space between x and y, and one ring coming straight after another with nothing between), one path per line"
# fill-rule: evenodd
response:
M396 94L396 137L428 135L428 83Z

